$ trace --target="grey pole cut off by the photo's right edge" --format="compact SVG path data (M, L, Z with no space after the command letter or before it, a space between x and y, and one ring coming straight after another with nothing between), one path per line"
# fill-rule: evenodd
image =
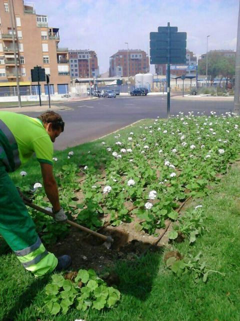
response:
M235 87L234 87L234 113L239 115L240 102L240 2L238 10L238 23L237 23L237 35L236 35L236 62L235 62Z

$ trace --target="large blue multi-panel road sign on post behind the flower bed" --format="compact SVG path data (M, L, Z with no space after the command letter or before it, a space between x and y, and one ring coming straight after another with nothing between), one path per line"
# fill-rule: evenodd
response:
M170 116L170 64L185 63L185 32L177 32L177 27L170 27L169 22L167 27L158 27L157 32L150 32L150 64L167 64L167 117Z

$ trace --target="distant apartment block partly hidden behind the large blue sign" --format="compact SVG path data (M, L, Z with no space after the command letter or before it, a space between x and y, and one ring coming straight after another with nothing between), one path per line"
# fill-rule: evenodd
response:
M171 76L194 76L196 75L196 57L195 54L186 50L186 63L179 65L171 65L170 66L170 74ZM157 75L166 75L167 65L155 65L155 73Z

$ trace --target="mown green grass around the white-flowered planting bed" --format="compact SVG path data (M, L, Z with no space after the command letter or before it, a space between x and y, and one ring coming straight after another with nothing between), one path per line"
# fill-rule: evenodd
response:
M146 121L147 122L147 121ZM137 128L130 129L136 132ZM129 131L125 129L127 134ZM100 141L111 141L110 135ZM60 139L60 138L59 138ZM92 142L71 148L79 163L85 161L87 151L97 152L100 142ZM69 149L68 149L69 150ZM59 163L65 163L67 151L57 152ZM106 156L107 157L107 156ZM96 159L98 161L98 159ZM101 159L99 163L104 162ZM33 161L24 168L31 173L19 182L19 173L13 175L19 184L39 181L39 168ZM117 261L115 271L120 276L118 289L121 300L111 310L78 312L70 310L65 316L52 317L39 309L43 305L44 285L50 276L36 280L18 263L15 256L6 253L2 246L0 257L0 320L73 321L83 318L87 321L237 321L240 319L240 169L234 167L225 175L212 193L198 200L205 214L207 231L189 246L185 241L172 244L184 256L202 252L207 268L224 273L209 274L208 281L195 284L190 275L176 277L166 269L162 252L148 252L133 262ZM80 255L80 253L79 253Z

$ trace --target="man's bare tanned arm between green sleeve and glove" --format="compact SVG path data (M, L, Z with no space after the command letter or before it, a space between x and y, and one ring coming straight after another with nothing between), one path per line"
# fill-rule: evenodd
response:
M58 198L56 181L52 172L52 166L46 163L40 163L40 167L46 196L52 205L53 212L58 212L61 207Z

